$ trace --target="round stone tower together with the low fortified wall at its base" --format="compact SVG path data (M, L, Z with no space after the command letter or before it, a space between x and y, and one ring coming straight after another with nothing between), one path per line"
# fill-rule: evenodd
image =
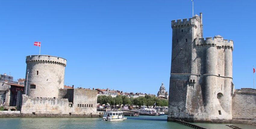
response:
M96 115L96 90L63 89L66 59L30 55L26 63L27 90L22 95L21 113Z

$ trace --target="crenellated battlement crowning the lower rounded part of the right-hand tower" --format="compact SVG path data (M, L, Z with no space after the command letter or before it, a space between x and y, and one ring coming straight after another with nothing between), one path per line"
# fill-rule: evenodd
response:
M195 39L195 45L213 45L216 46L218 49L232 49L233 51L233 40L223 39L220 35L214 37L206 37L204 38L197 38Z

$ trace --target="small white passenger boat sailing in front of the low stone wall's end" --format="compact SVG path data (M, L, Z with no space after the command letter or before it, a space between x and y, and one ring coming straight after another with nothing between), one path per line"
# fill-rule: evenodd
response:
M121 111L107 111L103 112L102 121L123 121L127 118L123 116L123 112Z

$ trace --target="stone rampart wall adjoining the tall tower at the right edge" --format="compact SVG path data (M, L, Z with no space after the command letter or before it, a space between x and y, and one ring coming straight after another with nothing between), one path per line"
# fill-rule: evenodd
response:
M256 119L256 89L236 89L232 98L233 119Z

